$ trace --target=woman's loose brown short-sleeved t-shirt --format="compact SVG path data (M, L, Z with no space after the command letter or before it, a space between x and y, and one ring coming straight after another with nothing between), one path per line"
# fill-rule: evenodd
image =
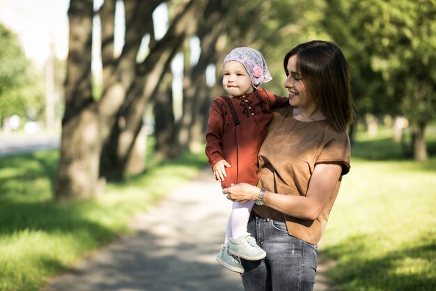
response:
M305 196L313 169L320 163L341 165L341 175L349 172L348 134L334 130L327 119L298 121L293 118L293 107L276 110L259 151L258 187L273 193ZM341 181L337 181L315 221L286 216L266 206L255 205L254 211L265 218L286 221L290 235L310 244L318 244L340 185Z

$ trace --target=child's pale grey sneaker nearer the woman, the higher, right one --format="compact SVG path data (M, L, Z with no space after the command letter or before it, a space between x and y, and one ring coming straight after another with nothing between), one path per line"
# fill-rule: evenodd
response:
M249 233L242 234L237 239L230 239L228 252L249 261L262 260L267 255L267 253L256 244L256 239L251 237Z

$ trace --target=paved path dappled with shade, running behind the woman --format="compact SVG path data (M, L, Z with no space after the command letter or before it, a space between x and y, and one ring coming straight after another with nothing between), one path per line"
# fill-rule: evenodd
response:
M220 192L203 170L134 218L137 235L88 255L42 291L242 291L240 276L215 261L231 208ZM322 269L316 291L331 291Z

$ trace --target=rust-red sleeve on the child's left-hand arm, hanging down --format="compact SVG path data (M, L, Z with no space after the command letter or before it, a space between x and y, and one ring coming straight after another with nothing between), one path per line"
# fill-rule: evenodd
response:
M218 161L224 160L224 152L222 149L224 130L224 115L223 110L216 100L212 102L208 121L208 132L206 133L206 156L210 167L213 167Z

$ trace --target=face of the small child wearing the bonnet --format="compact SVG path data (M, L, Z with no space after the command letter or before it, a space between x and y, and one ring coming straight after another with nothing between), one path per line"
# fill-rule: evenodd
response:
M239 97L254 91L250 76L239 61L226 62L223 73L223 87L231 96Z

